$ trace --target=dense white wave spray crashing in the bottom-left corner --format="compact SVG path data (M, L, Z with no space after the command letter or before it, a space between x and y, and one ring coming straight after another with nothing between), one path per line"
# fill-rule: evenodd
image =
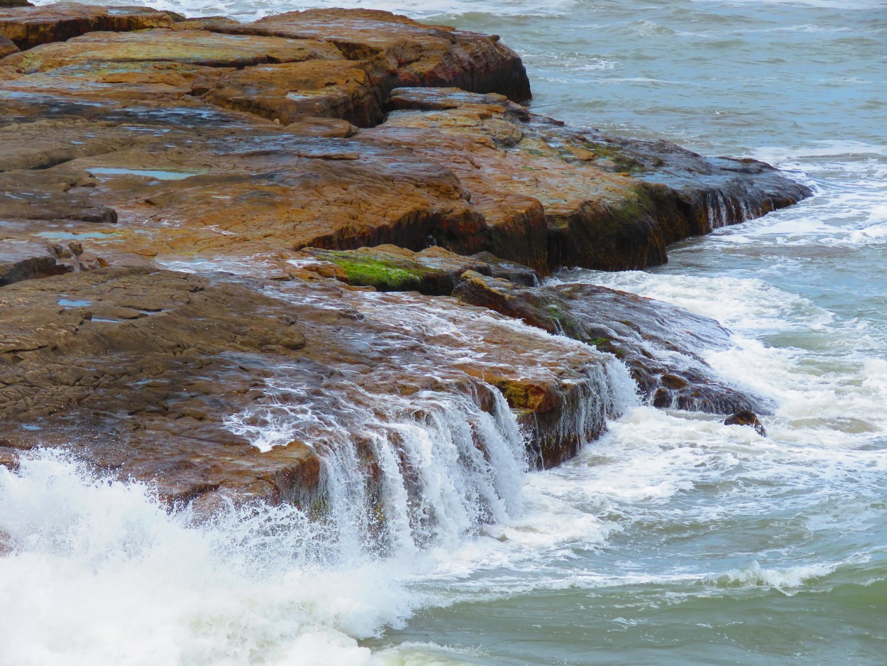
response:
M50 452L0 470L4 663L370 663L354 638L411 607L396 567L347 549L293 508L194 526L148 488L90 480ZM346 544L347 545L347 544Z

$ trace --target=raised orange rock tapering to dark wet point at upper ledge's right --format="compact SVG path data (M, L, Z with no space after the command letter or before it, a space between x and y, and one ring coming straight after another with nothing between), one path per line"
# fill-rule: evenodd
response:
M398 90L389 105L369 134L446 155L479 207L495 202L492 251L534 267L655 266L673 242L810 194L765 163L569 128L495 95Z

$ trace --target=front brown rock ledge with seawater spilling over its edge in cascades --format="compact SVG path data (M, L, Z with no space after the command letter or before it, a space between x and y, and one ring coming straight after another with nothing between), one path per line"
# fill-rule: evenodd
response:
M290 285L262 293L191 274L106 268L3 287L6 464L10 452L52 445L148 480L170 502L214 493L309 507L324 447L387 418L379 416L386 404L394 419L446 394L491 408L482 396L495 385L540 423L561 424L549 434L572 446L602 427L604 413L571 421L569 411L595 388L589 377L606 362L600 354L565 351L453 301L398 294L373 302L361 292ZM469 361L469 350L483 361ZM291 430L260 451L259 429L285 417L287 405L338 430L284 418ZM554 441L536 449L539 464L568 450Z

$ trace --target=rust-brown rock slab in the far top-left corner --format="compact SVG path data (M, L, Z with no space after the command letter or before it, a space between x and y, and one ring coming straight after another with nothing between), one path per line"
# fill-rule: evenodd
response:
M169 28L177 14L148 7L97 7L90 4L58 3L41 7L0 5L0 36L20 49L38 44L63 42L96 30L139 30Z

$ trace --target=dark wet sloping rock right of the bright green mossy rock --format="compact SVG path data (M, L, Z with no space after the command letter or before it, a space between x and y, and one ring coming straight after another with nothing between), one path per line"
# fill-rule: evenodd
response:
M699 354L729 348L729 334L683 308L589 284L526 288L471 273L453 295L615 354L657 408L714 414L769 408L765 399L717 377Z

